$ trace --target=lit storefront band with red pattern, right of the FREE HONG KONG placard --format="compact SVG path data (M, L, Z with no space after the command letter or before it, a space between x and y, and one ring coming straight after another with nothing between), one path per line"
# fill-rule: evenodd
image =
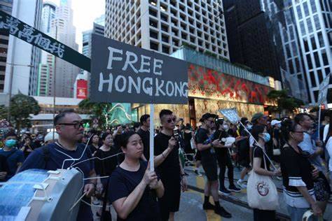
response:
M272 87L191 64L188 68L188 97L268 104Z

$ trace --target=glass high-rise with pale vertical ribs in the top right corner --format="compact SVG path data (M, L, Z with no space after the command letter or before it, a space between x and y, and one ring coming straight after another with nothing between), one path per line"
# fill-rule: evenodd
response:
M332 71L332 2L267 0L265 10L272 21L284 87L315 104L320 83Z

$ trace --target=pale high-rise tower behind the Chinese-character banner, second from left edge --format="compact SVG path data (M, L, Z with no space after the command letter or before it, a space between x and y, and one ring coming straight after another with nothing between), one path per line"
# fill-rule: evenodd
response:
M14 0L12 16L36 29L41 29L41 9L41 0ZM36 95L40 55L39 48L15 36L9 36L5 93L9 93L11 90L12 94L21 92L22 94ZM13 76L12 81L11 76Z

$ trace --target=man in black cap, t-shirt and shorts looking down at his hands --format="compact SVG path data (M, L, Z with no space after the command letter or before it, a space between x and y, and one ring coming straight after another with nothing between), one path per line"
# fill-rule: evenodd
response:
M222 148L219 139L213 139L213 134L210 133L210 129L214 127L214 120L216 115L205 113L202 115L200 122L202 122L202 127L198 129L197 134L195 135L197 149L200 150L202 155L202 166L207 176L207 181L205 183L204 190L204 210L214 210L214 213L217 213L225 218L231 218L232 215L228 213L219 203L219 194L218 194L218 168L216 163L216 154L214 148ZM214 205L209 203L209 196L212 195L214 199Z

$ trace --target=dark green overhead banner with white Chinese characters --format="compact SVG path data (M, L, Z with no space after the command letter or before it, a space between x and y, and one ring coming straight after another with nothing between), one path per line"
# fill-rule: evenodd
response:
M90 58L0 10L0 29L90 72Z

